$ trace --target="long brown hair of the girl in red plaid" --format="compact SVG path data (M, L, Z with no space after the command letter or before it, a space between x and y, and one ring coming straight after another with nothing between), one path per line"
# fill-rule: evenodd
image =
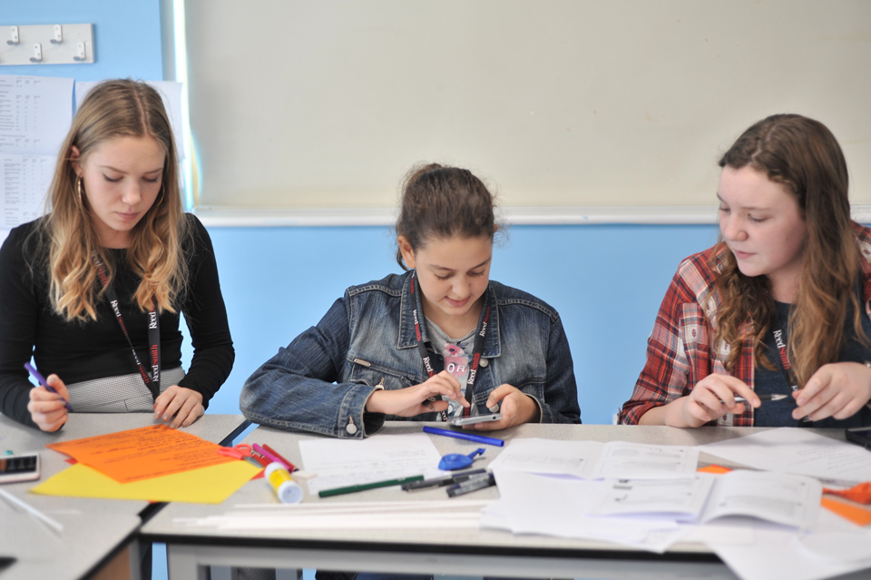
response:
M861 253L856 244L847 198L847 162L835 136L823 123L798 114L772 115L745 131L719 160L720 167L751 167L792 193L807 223L798 298L789 314L788 359L798 386L824 364L837 361L843 342L847 305L852 303L856 336L864 308L856 296ZM731 251L717 266L723 300L715 340L729 344L726 368L741 353L742 326L752 329L754 356L775 369L765 354L765 335L774 319L774 301L766 276L750 278L738 269ZM752 324L744 326L745 322Z

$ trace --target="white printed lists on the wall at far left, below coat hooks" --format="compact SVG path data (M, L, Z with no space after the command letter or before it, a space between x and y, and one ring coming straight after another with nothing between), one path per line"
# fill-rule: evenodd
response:
M0 75L0 230L42 215L72 122L73 79Z

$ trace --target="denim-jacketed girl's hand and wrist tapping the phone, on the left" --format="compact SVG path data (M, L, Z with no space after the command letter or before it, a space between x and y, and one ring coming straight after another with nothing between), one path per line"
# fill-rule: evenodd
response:
M373 392L366 401L366 410L370 413L386 413L399 417L414 417L421 413L444 411L448 405L446 400L429 400L437 395L453 398L463 407L469 406L469 402L463 397L460 383L451 373L443 370L414 387Z

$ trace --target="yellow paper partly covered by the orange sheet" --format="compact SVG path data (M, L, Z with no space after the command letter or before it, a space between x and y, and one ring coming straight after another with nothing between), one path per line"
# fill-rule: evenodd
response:
M259 473L247 461L231 461L169 476L118 483L81 463L46 479L31 491L44 496L102 497L220 504Z

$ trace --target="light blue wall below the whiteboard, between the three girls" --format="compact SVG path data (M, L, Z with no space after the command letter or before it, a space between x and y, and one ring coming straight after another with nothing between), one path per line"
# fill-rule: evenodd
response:
M318 322L347 286L398 271L389 228L211 228L236 365L210 412L239 408L251 371ZM611 423L631 394L662 296L714 226L514 226L492 278L559 310L582 419ZM511 356L511 353L508 353Z

